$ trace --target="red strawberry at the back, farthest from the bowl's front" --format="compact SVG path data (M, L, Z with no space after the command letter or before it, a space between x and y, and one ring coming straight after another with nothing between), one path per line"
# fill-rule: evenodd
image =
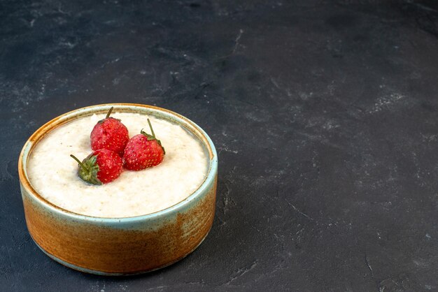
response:
M97 122L91 131L91 148L108 149L122 156L129 140L128 129L120 119L110 117L112 111L113 107L110 108L105 119Z

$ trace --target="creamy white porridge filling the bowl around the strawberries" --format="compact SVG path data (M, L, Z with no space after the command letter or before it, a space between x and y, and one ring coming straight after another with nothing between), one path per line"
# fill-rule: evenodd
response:
M160 165L145 170L124 170L109 184L94 186L78 177L78 163L92 153L90 133L105 114L76 119L48 133L31 152L29 180L51 203L94 217L134 217L164 210L181 202L204 182L208 170L206 152L181 126L152 116L113 112L129 130L129 138L141 129L161 140L166 155Z

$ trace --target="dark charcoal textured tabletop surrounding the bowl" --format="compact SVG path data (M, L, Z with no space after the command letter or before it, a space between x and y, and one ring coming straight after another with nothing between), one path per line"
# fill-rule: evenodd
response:
M436 1L0 1L3 291L438 291ZM108 102L189 117L219 153L205 242L85 275L24 222L38 126Z

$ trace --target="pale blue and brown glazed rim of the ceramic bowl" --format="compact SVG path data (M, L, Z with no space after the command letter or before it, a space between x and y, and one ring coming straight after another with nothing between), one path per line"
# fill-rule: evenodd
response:
M204 147L206 147L207 151L209 152L209 170L207 171L207 175L204 181L202 182L202 184L194 192L192 192L190 196L188 196L184 200L181 200L181 202L178 202L175 205L171 205L170 207L167 207L163 210L159 210L157 212L143 214L139 216L133 216L133 217L94 217L90 215L79 214L73 211L66 210L62 207L59 207L54 203L51 203L49 200L46 200L40 194L38 194L38 191L36 191L36 189L34 189L34 187L31 185L29 177L27 177L27 171L25 170L27 168L27 159L29 158L32 149L34 149L34 147L38 144L38 142L41 139L43 139L43 137L47 133L50 133L50 131L56 129L57 127L62 126L80 117L86 117L88 115L108 112L108 109L111 108L111 106L113 106L115 108L115 111L118 112L136 112L135 111L136 108L146 108L146 110L151 110L152 112L162 112L164 115L173 116L174 118L176 118L176 121L178 122L178 124L180 124L180 126L183 126L187 131L190 131L192 134L195 134L195 136L199 138L200 142L204 144ZM122 110L122 109L128 109L128 110ZM158 118L163 119L163 117L158 117ZM26 156L26 159L24 159L24 156ZM26 165L24 165L24 163L26 163ZM187 117L184 117L183 115L180 115L171 110L160 108L155 105L145 105L141 103L101 103L97 105L86 106L83 108L77 108L76 110L71 110L62 115L59 115L54 119L50 119L50 121L46 122L45 124L43 124L43 126L39 127L36 131L34 131L34 133L32 133L32 135L29 137L26 143L24 143L24 146L22 147L18 159L18 176L19 176L20 184L22 185L22 188L25 189L25 191L27 191L27 193L32 198L38 200L38 203L40 203L44 207L47 207L53 212L56 212L58 214L67 217L71 217L72 219L86 220L86 221L92 221L102 224L111 224L111 225L115 223L130 224L138 221L145 221L148 219L167 217L171 213L178 212L179 210L184 210L185 205L188 205L192 200L195 200L196 198L201 196L201 194L204 194L204 192L206 191L207 187L209 187L211 182L215 183L217 168L218 168L218 154L216 152L216 148L213 145L213 141L211 140L211 138L200 126L195 124L195 122L192 122Z

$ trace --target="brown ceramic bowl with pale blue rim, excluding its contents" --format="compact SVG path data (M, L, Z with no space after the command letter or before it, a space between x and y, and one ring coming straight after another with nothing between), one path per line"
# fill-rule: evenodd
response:
M180 203L137 217L101 218L76 214L45 200L31 186L27 160L45 134L73 119L95 113L137 112L183 126L209 154L202 185ZM209 136L189 119L150 105L113 103L67 112L41 126L24 145L18 161L20 187L29 233L50 258L98 275L132 275L163 268L195 250L213 224L218 155Z

